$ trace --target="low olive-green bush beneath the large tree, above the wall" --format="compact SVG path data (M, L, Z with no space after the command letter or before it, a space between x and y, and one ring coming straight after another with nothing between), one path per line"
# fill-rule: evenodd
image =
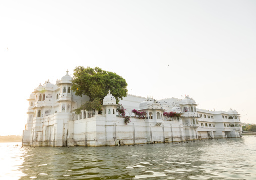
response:
M80 114L82 110L86 111L102 111L102 101L99 98L94 99L93 101L88 101L82 104L79 108L75 109L75 114Z

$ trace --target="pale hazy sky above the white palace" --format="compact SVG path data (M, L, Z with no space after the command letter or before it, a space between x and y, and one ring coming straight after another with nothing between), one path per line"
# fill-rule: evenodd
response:
M255 20L256 1L0 1L0 135L21 135L30 93L76 66L256 123Z

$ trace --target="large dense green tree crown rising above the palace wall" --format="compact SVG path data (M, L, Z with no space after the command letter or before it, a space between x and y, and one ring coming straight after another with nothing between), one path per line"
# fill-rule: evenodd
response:
M84 68L78 66L74 69L73 75L71 89L77 96L87 95L90 97L90 101L95 98L103 100L110 90L116 103L119 101L118 98L122 99L122 97L127 96L127 83L116 73L103 71L98 67Z

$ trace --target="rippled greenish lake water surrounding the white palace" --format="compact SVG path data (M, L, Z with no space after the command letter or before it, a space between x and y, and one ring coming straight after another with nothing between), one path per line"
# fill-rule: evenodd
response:
M0 151L0 179L256 179L255 136L119 147L0 143Z

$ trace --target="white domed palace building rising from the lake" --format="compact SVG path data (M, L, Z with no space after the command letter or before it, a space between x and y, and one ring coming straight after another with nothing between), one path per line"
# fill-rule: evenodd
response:
M130 116L127 125L118 115L111 89L103 99L102 114L74 109L89 101L71 91L68 71L56 84L46 81L27 99L28 120L23 131L24 146L114 146L124 144L165 143L204 138L241 137L240 116L236 110L198 109L193 98L155 100L127 95L119 101ZM133 109L146 111L139 119ZM167 120L163 112L176 112L181 118Z

